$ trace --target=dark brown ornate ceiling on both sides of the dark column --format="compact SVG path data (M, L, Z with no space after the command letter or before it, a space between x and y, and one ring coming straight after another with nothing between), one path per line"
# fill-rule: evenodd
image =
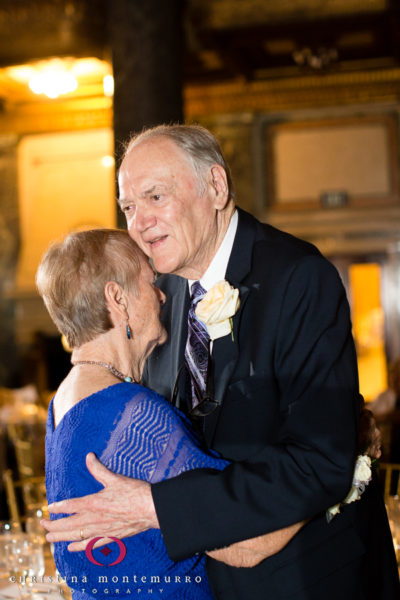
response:
M104 58L111 1L0 0L0 65L53 55ZM182 4L188 84L400 64L397 0Z

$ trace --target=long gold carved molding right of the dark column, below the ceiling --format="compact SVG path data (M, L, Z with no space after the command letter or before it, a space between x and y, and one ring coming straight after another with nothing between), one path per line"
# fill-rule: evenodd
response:
M219 113L269 112L283 109L400 100L400 68L270 81L188 86L187 118Z

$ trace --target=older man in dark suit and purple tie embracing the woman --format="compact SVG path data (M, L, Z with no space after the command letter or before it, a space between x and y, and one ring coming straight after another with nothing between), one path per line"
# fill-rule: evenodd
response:
M359 416L349 309L335 269L315 247L235 209L229 169L201 127L160 126L131 140L119 189L130 235L167 274L159 285L169 339L150 358L146 384L170 397L177 378L180 407L232 464L150 486L89 456L105 489L53 506L76 514L47 522L48 539L81 539L71 544L80 550L91 537L160 527L180 560L307 521L254 568L209 558L215 598L394 598L393 550L372 484L361 501L326 517L351 486ZM210 340L196 306L221 280L240 304L225 315L225 334ZM371 507L383 528L367 527ZM365 545L378 530L385 533L373 538L379 553L371 558ZM381 573L372 563L383 556L385 596L383 579L374 588L367 577Z

